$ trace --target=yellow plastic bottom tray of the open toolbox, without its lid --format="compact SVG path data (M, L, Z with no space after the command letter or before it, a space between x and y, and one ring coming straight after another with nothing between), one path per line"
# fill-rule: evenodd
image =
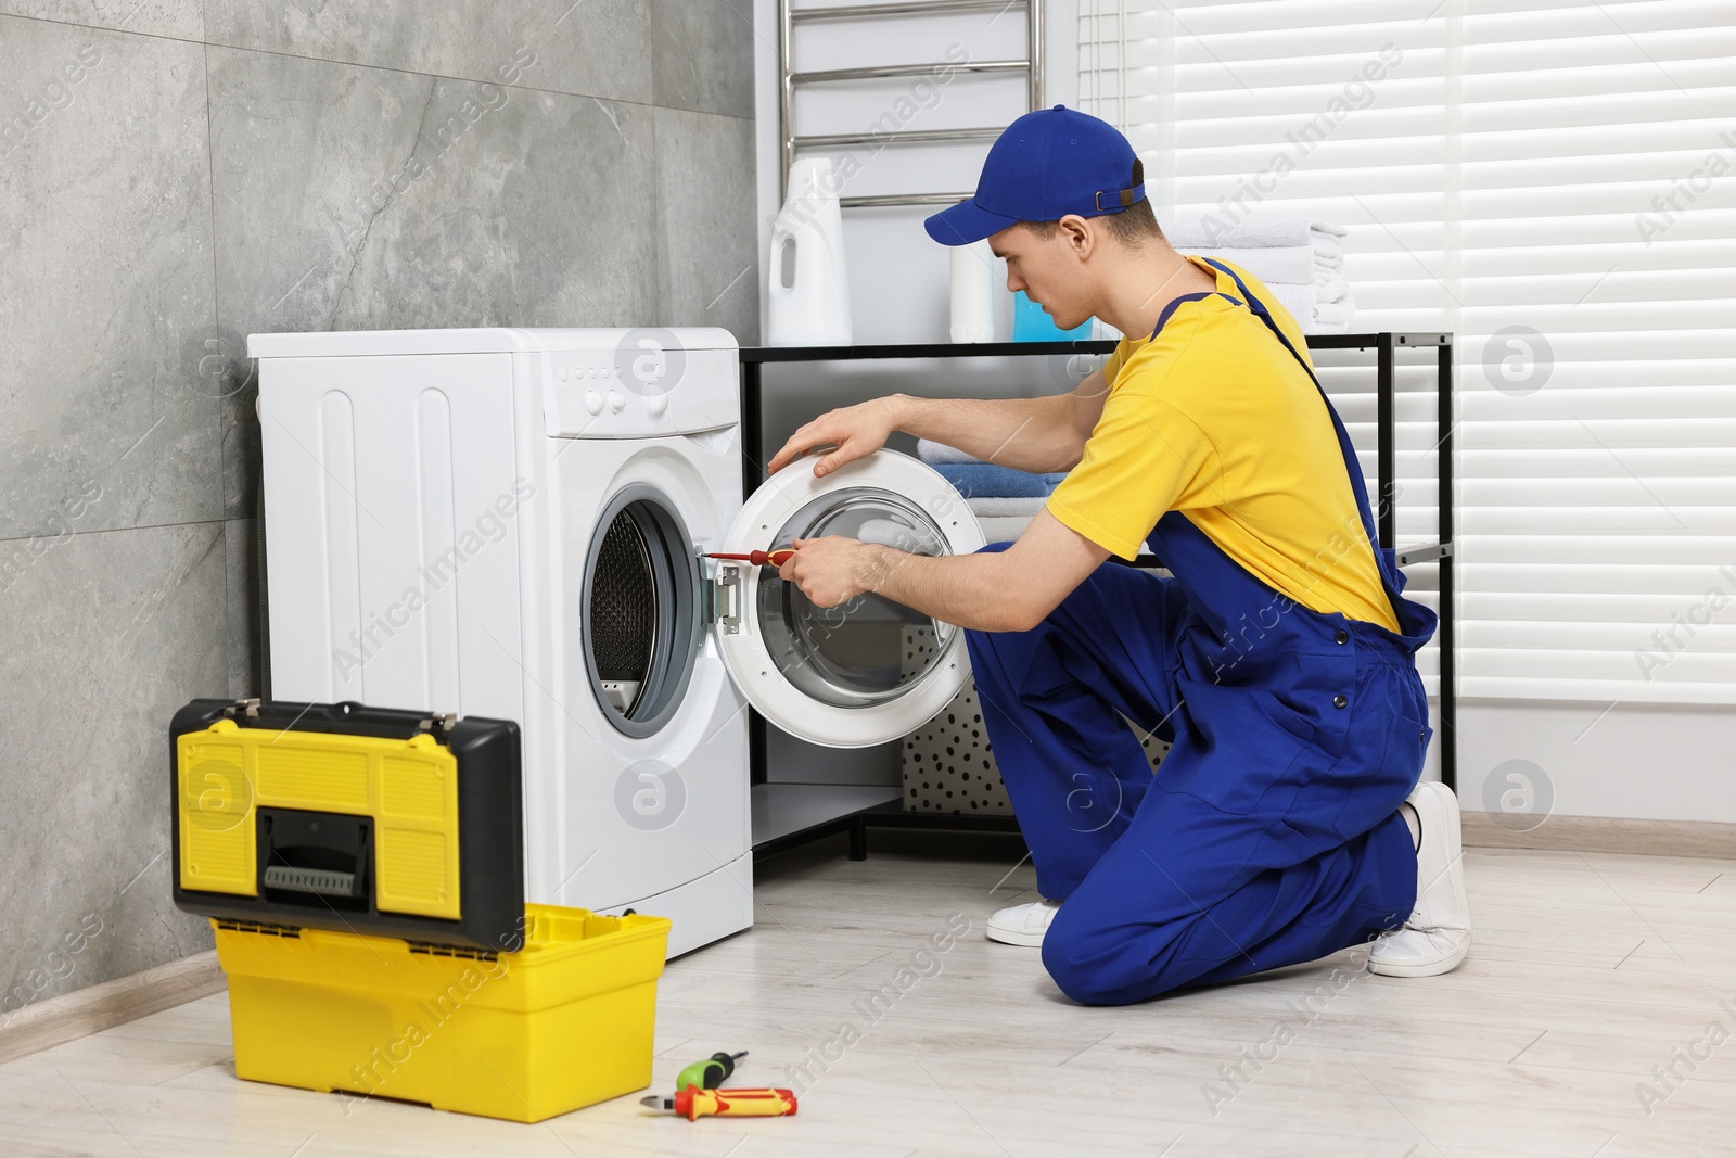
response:
M234 1071L542 1122L651 1085L668 920L531 905L524 948L217 922Z

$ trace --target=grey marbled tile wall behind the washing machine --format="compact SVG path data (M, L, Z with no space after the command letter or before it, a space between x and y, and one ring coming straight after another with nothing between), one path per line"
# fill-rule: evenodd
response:
M245 335L757 342L748 19L0 0L0 1026L210 944L165 736L259 689Z

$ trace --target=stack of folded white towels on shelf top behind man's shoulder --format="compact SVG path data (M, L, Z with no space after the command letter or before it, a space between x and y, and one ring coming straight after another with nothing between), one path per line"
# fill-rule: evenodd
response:
M1229 231L1179 224L1177 250L1241 266L1266 283L1304 333L1345 333L1356 316L1344 280L1345 229L1323 220L1245 220Z

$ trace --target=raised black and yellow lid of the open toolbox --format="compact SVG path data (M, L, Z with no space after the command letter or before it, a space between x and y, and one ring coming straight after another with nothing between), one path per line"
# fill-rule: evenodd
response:
M194 700L168 733L179 908L472 951L521 946L516 722Z

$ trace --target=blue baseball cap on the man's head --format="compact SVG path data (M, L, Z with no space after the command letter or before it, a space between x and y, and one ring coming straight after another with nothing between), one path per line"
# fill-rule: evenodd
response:
M941 245L970 245L1021 220L1101 217L1146 200L1134 146L1109 122L1057 104L1007 125L977 193L922 222Z

